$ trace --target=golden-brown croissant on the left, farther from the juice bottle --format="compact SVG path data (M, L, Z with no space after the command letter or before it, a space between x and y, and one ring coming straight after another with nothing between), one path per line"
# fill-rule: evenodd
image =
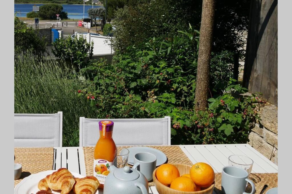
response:
M75 184L73 175L66 168L60 168L58 171L47 175L41 179L38 184L39 190L62 190L61 194L68 194Z

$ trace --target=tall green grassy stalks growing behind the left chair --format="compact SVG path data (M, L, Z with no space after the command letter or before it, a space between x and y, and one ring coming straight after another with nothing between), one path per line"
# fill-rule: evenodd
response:
M79 146L79 117L96 118L97 109L77 97L82 83L65 62L41 59L32 54L15 59L14 112L63 112L63 146ZM98 130L98 129L96 129Z

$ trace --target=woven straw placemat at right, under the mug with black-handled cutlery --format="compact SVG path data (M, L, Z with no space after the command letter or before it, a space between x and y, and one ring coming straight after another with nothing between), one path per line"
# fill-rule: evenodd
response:
M259 194L262 191L264 185L268 185L264 191L266 193L270 188L278 187L278 173L251 173L249 179L253 181L256 186L255 194ZM221 191L221 173L215 173L215 189L217 194L223 194ZM251 185L248 184L246 188L247 193L251 193Z

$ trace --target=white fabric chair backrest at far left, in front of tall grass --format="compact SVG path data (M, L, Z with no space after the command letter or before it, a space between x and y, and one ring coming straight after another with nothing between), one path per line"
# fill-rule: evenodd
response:
M14 114L14 147L62 147L62 112Z

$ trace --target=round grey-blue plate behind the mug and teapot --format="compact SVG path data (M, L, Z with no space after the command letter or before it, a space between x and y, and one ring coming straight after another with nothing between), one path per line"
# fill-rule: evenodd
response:
M167 157L163 152L161 152L158 149L154 149L152 147L130 147L127 149L130 151L129 158L128 158L128 164L131 164L131 165L134 164L135 154L137 154L139 152L149 152L151 154L154 154L157 158L156 166L160 166L161 164L164 164L167 161Z

